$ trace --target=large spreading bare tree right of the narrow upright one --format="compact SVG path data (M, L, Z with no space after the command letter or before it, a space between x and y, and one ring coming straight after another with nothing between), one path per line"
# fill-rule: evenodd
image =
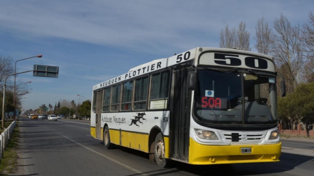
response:
M305 55L300 33L300 26L291 26L288 19L281 14L279 19L275 19L274 31L270 35L270 53L274 56L279 73L289 83L288 92L294 92L301 80Z

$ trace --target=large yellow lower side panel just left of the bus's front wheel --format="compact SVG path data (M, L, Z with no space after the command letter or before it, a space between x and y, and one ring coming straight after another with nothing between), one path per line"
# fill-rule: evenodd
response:
M110 133L111 135L111 133ZM148 134L121 132L121 145L148 153ZM111 139L111 137L110 137ZM117 137L117 139L119 139Z

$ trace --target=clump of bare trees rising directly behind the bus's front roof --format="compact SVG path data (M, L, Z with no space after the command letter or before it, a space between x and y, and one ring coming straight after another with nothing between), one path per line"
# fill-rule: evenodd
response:
M241 21L239 28L235 27L229 29L227 25L220 31L220 42L219 47L221 48L239 48L245 50L251 50L250 48L250 33L246 30L245 22Z

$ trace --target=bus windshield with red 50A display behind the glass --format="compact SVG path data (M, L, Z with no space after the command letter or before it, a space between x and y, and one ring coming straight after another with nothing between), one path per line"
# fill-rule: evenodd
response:
M275 77L234 69L198 70L197 77L195 117L199 122L209 125L277 123Z

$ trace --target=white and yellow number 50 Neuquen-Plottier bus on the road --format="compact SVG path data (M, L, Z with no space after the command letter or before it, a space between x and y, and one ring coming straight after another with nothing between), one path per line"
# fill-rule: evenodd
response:
M93 86L90 133L161 167L277 162L277 75L271 56L240 49L153 60Z

